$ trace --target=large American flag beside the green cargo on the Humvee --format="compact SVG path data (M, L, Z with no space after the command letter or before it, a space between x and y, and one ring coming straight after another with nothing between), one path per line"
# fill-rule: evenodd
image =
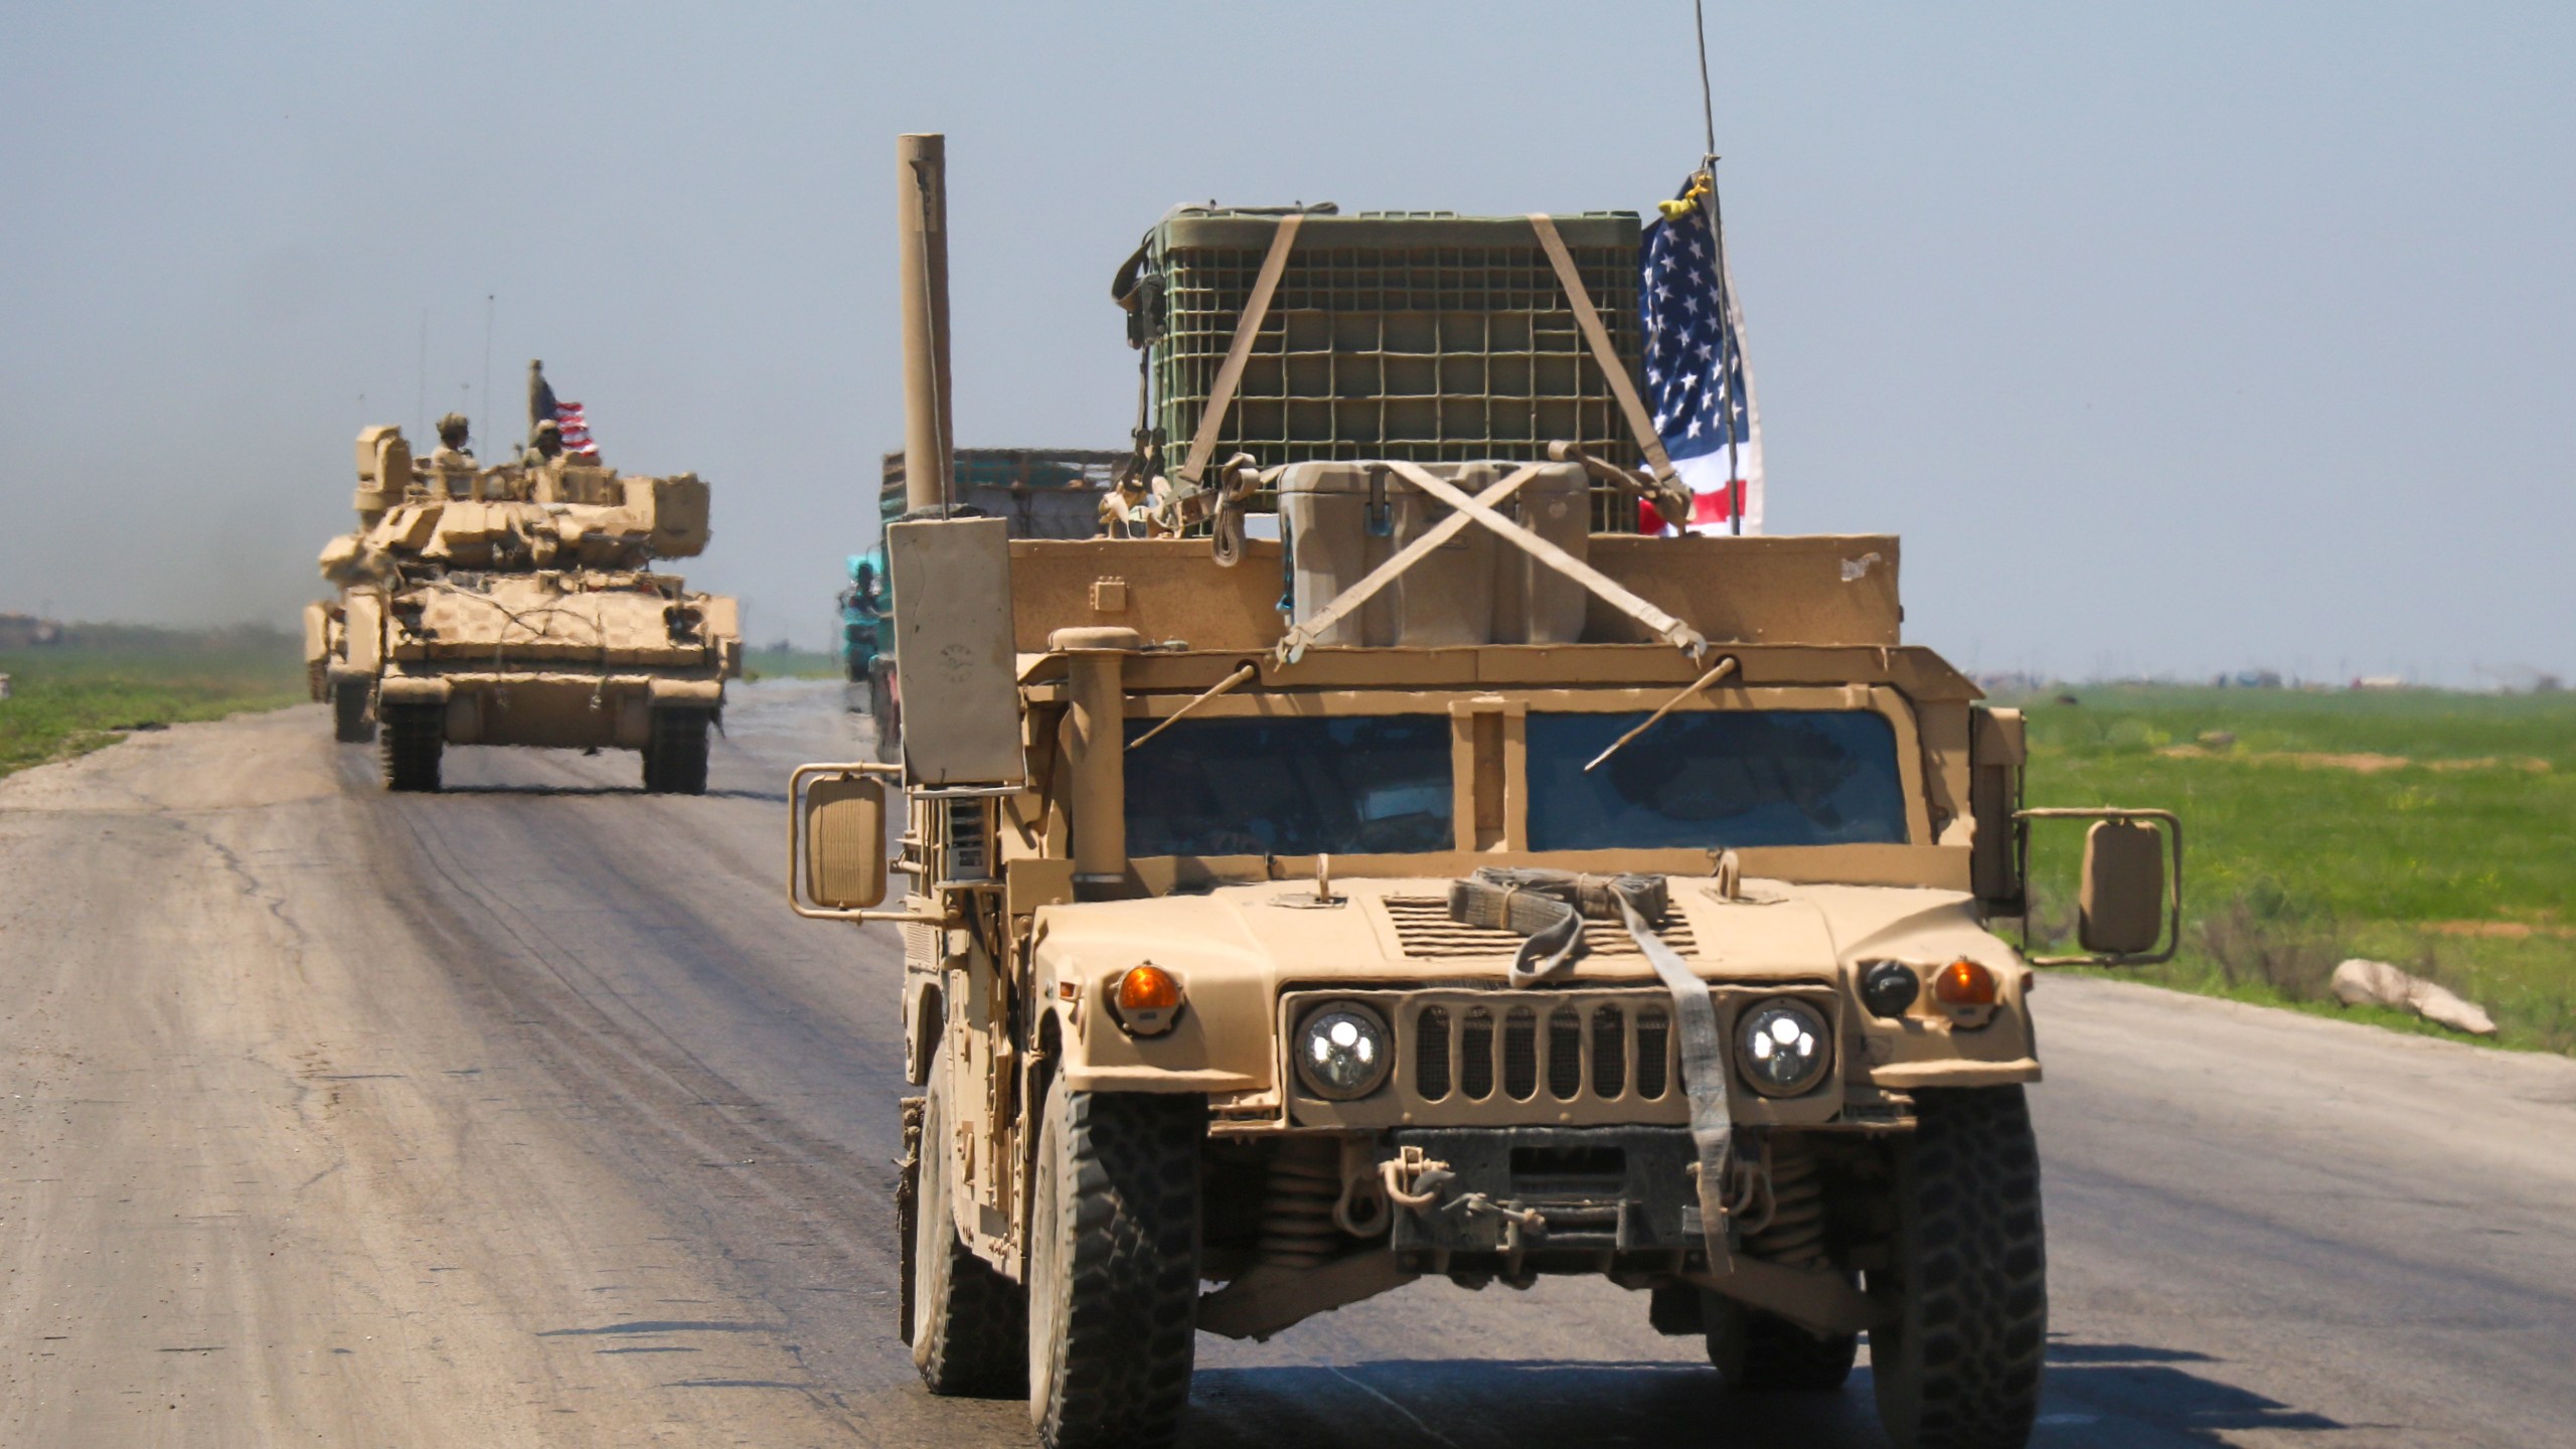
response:
M1762 410L1744 361L1744 309L1726 276L1716 199L1703 178L1687 206L1646 227L1636 309L1646 325L1646 405L1672 469L1690 485L1692 534L1762 531ZM1705 201L1703 201L1705 196ZM1741 500L1741 529L1736 505ZM1649 508L1646 523L1662 523Z

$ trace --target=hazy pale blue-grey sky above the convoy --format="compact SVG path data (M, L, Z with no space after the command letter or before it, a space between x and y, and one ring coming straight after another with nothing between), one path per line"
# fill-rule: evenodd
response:
M1185 199L1641 209L1690 5L0 5L0 611L291 621L546 358L822 645L948 131L966 446L1123 446ZM1775 531L1971 668L2576 676L2576 8L1710 8ZM420 335L428 317L428 400ZM363 397L363 407L361 407ZM2488 673L2478 673L2488 670Z

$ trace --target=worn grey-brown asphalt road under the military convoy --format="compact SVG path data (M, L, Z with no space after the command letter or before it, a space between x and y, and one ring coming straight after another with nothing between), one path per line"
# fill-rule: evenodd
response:
M755 686L714 792L319 709L0 781L0 1444L1028 1444L894 1333L891 931L781 905ZM2038 1444L2576 1446L2576 1062L2050 980ZM1200 1338L1193 1446L1883 1446L1728 1400L1641 1297L1414 1284Z

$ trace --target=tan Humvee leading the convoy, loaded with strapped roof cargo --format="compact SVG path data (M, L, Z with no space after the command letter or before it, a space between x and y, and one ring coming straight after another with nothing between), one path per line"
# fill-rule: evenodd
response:
M927 485L938 137L902 160ZM1597 1274L1728 1390L1837 1390L1865 1336L1896 1444L2030 1434L2035 967L2172 951L2179 830L2020 810L1893 536L1618 529L1672 492L1636 255L1620 214L1177 211L1123 289L1188 438L1131 500L1162 536L935 487L889 529L902 763L793 773L791 897L902 928L933 1392L1154 1444L1195 1333ZM1994 928L2053 815L2081 957Z

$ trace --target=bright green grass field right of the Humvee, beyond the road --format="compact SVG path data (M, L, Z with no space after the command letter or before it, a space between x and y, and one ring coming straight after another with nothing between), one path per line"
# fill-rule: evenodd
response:
M2027 804L2169 807L2184 951L2141 980L2434 1031L2326 993L2344 957L2576 1052L2576 694L2076 686L2030 719ZM2071 928L2081 825L2040 822L2032 923Z

